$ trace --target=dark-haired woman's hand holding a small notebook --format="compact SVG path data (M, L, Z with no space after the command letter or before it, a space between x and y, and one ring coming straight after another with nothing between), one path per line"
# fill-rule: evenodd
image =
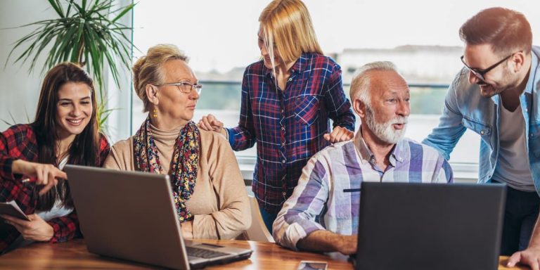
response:
M29 214L28 218L30 218L30 221L17 219L5 214L2 214L1 217L5 219L7 224L14 226L26 240L49 241L54 236L53 227L37 214Z

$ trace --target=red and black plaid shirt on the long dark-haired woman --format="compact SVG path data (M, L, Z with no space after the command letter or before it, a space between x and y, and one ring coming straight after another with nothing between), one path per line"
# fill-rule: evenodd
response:
M110 146L105 136L101 136L99 149L96 166L101 166L109 153ZM15 125L0 134L0 201L15 200L25 214L34 213L37 196L32 194L31 186L20 181L23 175L11 172L11 165L15 160L37 162L37 152L36 135L29 124ZM79 220L75 210L64 217L51 219L47 223L54 230L51 243L70 240L79 230ZM6 249L20 234L15 228L11 228L11 231L0 232L0 252Z

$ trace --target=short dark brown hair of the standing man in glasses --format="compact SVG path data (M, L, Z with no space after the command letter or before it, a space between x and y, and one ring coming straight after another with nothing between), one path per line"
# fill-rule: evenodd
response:
M487 8L467 20L459 29L466 44L491 44L494 53L508 53L532 49L531 25L525 15L508 8Z

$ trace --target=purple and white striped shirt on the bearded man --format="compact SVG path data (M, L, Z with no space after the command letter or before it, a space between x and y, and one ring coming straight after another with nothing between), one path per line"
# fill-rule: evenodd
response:
M358 231L362 181L450 183L449 163L435 148L402 139L383 172L358 132L354 140L335 143L307 162L293 195L274 222L274 238L296 250L298 240L317 230L341 235Z

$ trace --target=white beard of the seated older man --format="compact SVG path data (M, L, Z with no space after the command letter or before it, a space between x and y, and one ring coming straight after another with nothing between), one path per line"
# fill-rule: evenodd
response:
M369 107L366 108L366 124L368 125L368 129L370 129L378 139L385 141L386 143L395 144L403 139L407 129L406 123L408 118L409 117L397 116L387 122L379 123L375 121L373 110ZM404 124L404 127L403 129L396 130L392 127L392 124Z

